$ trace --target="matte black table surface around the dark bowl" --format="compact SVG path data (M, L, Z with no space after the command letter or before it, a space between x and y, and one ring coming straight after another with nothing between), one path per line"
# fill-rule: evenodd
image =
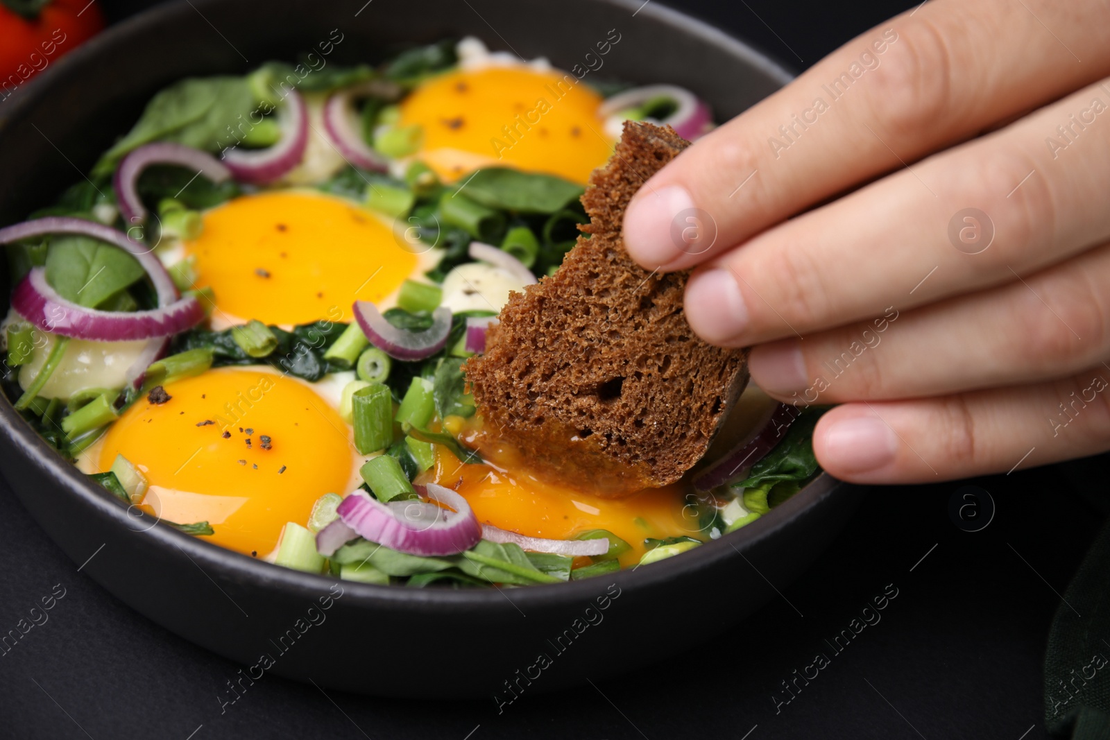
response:
M150 4L102 1L111 20ZM909 3L670 4L803 69ZM967 485L996 506L979 531L949 513ZM769 605L728 635L699 640L694 616L687 655L574 691L525 693L498 713L492 699L375 699L269 676L223 706L239 666L117 601L0 484L0 632L64 594L0 657L0 737L1043 738L1046 636L1102 518L1078 495L1084 485L1048 467L874 488L819 561L794 584L768 584ZM882 596L881 611L865 611ZM851 626L858 635L836 642ZM814 675L817 653L827 665L798 679Z

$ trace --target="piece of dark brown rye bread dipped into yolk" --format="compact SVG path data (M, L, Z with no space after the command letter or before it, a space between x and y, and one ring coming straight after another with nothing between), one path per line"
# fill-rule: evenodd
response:
M507 446L539 478L618 496L675 483L709 447L747 383L747 351L699 339L683 314L689 272L644 270L620 236L633 194L688 145L626 123L582 196L589 237L509 297L467 362L487 455Z

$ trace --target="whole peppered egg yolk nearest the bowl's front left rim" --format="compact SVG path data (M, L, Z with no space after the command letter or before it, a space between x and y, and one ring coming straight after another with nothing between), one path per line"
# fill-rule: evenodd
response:
M306 384L223 367L144 396L104 436L99 469L123 455L150 480L142 508L176 524L208 521L209 541L265 557L286 521L345 493L357 463L347 425Z

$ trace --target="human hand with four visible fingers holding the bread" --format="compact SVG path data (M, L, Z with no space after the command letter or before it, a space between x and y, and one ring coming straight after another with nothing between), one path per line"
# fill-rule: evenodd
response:
M696 266L690 326L770 395L839 404L838 478L1110 449L1108 73L1104 0L934 0L686 150L625 244Z

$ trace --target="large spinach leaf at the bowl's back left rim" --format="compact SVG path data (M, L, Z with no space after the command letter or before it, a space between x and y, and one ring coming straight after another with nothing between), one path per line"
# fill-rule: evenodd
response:
M245 78L188 78L160 91L132 126L93 168L93 175L110 175L123 156L152 141L172 141L206 152L218 152L234 141L229 126L250 120L256 101Z

